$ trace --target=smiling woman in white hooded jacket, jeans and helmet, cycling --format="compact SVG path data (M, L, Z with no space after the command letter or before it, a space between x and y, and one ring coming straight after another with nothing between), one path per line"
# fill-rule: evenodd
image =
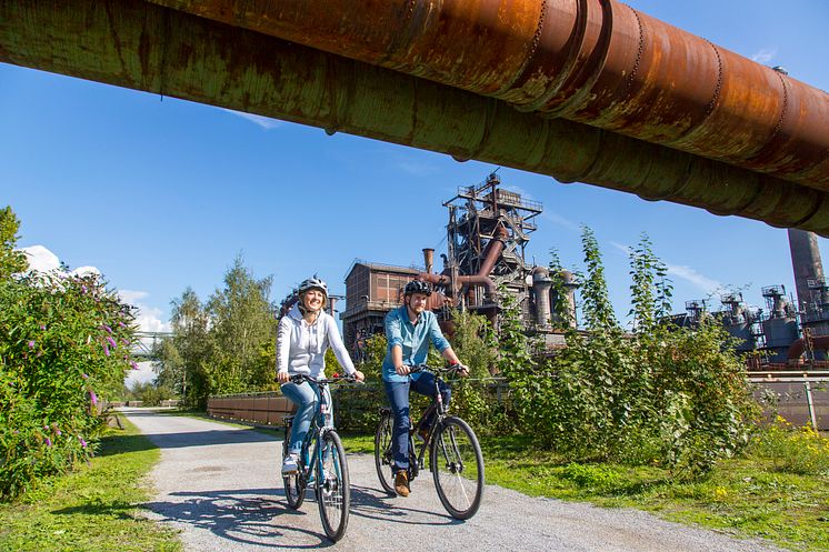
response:
M333 317L324 311L328 301L328 285L316 274L299 285L299 301L279 321L277 331L277 381L282 394L297 405L293 419L288 455L282 463L282 474L296 473L302 441L311 425L311 419L319 401L319 389L307 381L293 383L291 375L307 374L322 378L326 373L326 351L332 349L346 373L357 381L364 379L354 369L351 358L342 344ZM331 404L326 388L327 402ZM328 424L333 425L333 411L327 414Z

